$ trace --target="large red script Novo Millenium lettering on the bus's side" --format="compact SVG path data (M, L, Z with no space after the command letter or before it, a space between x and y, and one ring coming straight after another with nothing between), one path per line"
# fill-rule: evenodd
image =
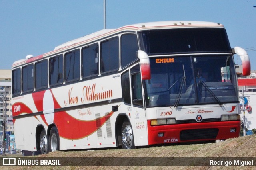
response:
M112 98L112 89L106 90L102 92L95 92L96 84L92 84L92 86L84 86L82 89L82 97L73 96L72 90L73 87L71 87L70 90L68 90L68 99L64 100L65 106L68 104L78 104L79 101L82 103L84 102L92 102L92 101L98 101L98 100L105 100L108 98ZM80 100L79 100L80 98Z

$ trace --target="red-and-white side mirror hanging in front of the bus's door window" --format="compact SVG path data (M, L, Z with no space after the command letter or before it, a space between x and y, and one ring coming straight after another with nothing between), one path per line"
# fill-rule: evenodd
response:
M139 50L138 58L140 59L140 69L141 69L142 80L150 80L151 71L150 71L150 61L149 61L148 54L142 50Z

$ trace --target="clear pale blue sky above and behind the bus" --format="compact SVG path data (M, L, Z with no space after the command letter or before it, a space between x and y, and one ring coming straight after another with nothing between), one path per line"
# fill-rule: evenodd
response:
M256 70L256 0L106 0L107 28L152 21L211 21ZM0 69L104 28L103 0L0 0ZM241 64L237 55L235 62Z

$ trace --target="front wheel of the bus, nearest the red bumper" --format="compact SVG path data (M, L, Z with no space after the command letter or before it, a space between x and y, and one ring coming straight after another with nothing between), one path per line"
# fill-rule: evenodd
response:
M134 135L130 122L124 121L121 128L121 137L123 149L135 149Z

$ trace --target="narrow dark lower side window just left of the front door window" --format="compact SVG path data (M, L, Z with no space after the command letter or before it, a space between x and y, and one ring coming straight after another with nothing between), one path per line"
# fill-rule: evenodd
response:
M123 96L124 103L131 104L129 71L126 71L121 75L121 81L122 81L122 96Z

